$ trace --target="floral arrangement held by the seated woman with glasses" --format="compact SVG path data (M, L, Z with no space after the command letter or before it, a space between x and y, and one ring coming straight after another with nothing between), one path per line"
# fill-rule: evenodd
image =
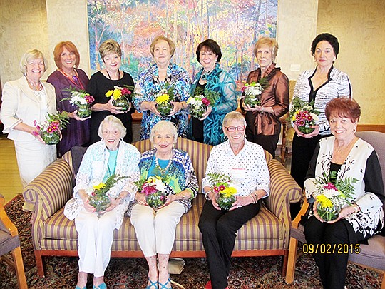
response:
M225 173L207 173L208 181L218 193L217 203L222 210L229 210L235 202L237 189L232 184L230 176Z

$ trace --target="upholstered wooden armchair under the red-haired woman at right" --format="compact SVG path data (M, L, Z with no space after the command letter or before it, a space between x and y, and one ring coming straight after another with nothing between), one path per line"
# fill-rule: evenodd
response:
M385 186L385 133L377 131L360 131L356 136L367 141L374 147L382 170L382 179ZM309 203L304 198L304 204L298 216L293 220L292 228L290 229L289 241L289 258L287 262L286 282L291 284L294 281L295 263L297 262L298 241L306 243L304 238L304 226L301 225L301 217L307 212ZM385 211L385 203L383 206ZM382 235L374 235L369 238L368 245L360 245L361 252L359 254L349 254L349 262L360 265L364 268L376 270L382 275L381 288L385 289L385 237Z

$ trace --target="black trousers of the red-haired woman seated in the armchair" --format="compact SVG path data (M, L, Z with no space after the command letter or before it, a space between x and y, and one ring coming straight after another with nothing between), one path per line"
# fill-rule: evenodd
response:
M365 240L364 235L354 232L347 220L342 219L329 224L321 223L314 216L310 217L304 225L304 235L307 245L312 244L316 247L317 244L324 244L324 247L319 246L317 253L312 254L319 268L324 289L344 289L349 253L346 250L337 250L342 248L341 246L336 246L335 252L332 253L334 244L358 243ZM322 248L327 248L326 246L329 245L331 250L325 253Z

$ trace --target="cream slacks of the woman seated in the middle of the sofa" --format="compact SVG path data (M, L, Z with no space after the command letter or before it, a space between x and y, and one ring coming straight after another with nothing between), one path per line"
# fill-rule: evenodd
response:
M178 201L155 211L149 206L136 204L130 221L145 257L170 254L175 241L175 228L186 208Z

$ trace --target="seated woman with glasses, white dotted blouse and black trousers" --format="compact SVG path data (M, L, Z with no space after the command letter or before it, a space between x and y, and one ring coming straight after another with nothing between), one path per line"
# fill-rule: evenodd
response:
M246 121L236 111L223 120L227 141L212 148L202 188L207 202L200 215L210 281L205 288L226 288L230 259L237 230L260 211L261 198L270 193L270 174L262 146L245 138ZM224 173L236 183L236 201L229 211L222 210L208 173Z

